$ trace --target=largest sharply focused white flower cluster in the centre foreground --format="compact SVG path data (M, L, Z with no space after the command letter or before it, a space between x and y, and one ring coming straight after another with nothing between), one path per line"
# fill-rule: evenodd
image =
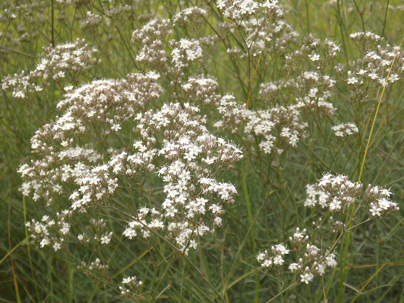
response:
M184 108L170 103L136 117L143 140L135 141L137 152L126 157L128 170L135 171L139 163L155 163L151 165L165 183L165 197L161 211L149 207L137 211L135 220L124 231L128 238L136 237L139 230L143 238L149 238L165 228L165 217L168 237L187 254L189 247L196 248L198 234L203 236L221 226L223 205L234 203L236 188L231 183L218 182L215 175L242 159L241 150L210 134L204 126L205 117L197 115L198 111L188 103ZM157 142L162 145L157 147Z

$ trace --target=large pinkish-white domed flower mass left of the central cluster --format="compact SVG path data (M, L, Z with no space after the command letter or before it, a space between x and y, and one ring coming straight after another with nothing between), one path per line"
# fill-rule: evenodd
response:
M72 208L84 211L91 201L114 192L115 177L110 178L108 172L119 157L106 164L95 145L108 142L124 122L133 120L139 108L158 98L161 88L157 78L153 72L131 74L128 79L95 80L76 90L67 88L65 100L57 105L65 113L31 139L31 147L41 159L20 166L26 180L21 186L23 194L32 194L35 201L43 198L51 205L63 192L62 184L74 182L80 188L70 196Z

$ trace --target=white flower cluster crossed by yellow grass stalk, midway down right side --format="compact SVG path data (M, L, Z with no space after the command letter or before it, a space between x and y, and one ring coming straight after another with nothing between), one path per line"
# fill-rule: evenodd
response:
M328 207L330 211L336 211L343 215L347 208L360 197L363 184L353 183L347 176L333 176L330 173L318 180L317 184L307 185L307 199L304 205L308 207ZM372 217L386 215L398 211L397 203L390 200L392 193L389 189L372 187L370 184L366 189L365 198L359 203L358 209L365 203L369 203Z

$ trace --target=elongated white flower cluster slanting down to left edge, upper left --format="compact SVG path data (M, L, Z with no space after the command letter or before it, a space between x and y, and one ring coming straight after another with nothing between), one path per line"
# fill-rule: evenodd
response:
M68 77L76 79L82 69L88 67L94 52L84 40L77 39L75 43L60 44L44 48L40 63L33 71L25 74L22 71L14 77L8 75L2 80L3 90L13 90L13 97L23 101L32 100L37 92L50 84L50 80L61 85L61 79ZM63 86L62 86L63 87Z

